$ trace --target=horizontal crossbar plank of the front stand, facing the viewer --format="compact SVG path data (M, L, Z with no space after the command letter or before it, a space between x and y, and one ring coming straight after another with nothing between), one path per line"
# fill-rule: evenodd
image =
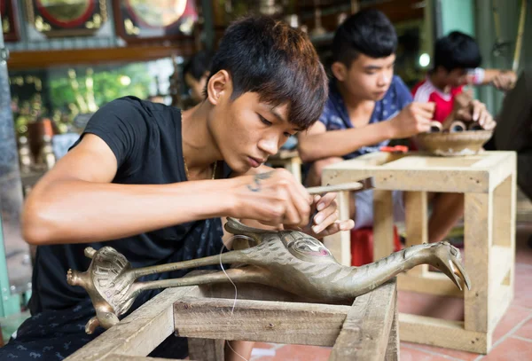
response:
M208 339L332 346L349 307L186 298L174 305L176 334Z

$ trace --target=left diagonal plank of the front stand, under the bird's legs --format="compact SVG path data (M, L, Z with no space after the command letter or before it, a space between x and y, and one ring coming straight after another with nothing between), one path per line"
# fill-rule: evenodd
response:
M127 318L100 334L68 361L104 360L112 354L146 356L174 331L172 306L186 295L200 295L198 286L168 288Z

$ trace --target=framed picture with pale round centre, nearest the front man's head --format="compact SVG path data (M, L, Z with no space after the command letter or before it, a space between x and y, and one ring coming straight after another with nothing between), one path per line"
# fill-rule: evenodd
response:
M192 38L198 23L194 0L115 0L116 33L127 43Z

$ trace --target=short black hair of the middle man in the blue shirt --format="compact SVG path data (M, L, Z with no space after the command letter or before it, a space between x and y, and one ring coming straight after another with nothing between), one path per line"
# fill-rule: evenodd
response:
M370 58L385 58L397 50L395 27L383 12L367 9L346 19L332 40L332 61L346 67L364 54Z

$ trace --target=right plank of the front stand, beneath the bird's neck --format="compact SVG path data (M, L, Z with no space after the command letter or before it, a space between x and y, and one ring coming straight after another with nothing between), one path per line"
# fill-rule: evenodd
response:
M383 360L395 307L395 279L356 297L329 360Z

